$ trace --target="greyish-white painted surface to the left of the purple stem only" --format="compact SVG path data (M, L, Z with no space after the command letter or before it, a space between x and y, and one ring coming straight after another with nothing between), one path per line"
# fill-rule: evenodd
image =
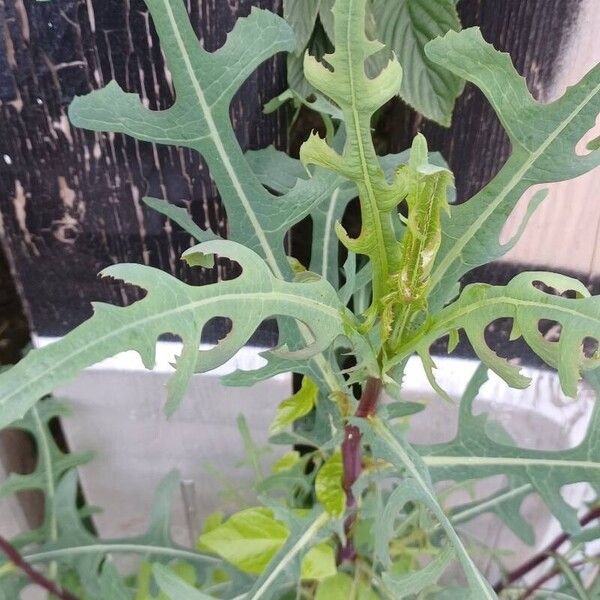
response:
M38 345L51 341L41 339ZM195 376L182 406L167 419L162 410L165 385L180 347L160 342L152 372L136 353L126 352L57 391L73 408L73 416L63 423L70 448L95 455L79 472L87 501L104 509L94 517L103 537L144 531L153 490L172 469L195 482L202 519L218 508L235 510L252 501L252 469L236 466L245 458L236 419L243 414L255 443L264 447L275 409L291 393L291 377L252 388L223 386L221 375L264 363L258 349L244 348L214 372ZM276 458L275 452L265 455L266 467ZM173 517L176 539L188 544L179 494Z

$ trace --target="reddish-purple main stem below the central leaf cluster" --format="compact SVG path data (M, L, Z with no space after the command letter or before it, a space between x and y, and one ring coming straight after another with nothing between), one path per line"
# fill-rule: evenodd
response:
M366 419L375 414L377 402L381 395L382 383L380 379L369 377L358 403L358 408L354 413L355 417ZM352 486L362 473L362 451L361 434L356 425L346 425L344 430L344 441L342 442L342 463L344 466L344 475L342 484L346 492L346 508L352 510L356 506L356 499L352 493ZM340 549L338 562L344 560L354 561L356 559L356 550L351 539L351 530L354 525L354 514L350 514L344 523L346 533L346 544Z

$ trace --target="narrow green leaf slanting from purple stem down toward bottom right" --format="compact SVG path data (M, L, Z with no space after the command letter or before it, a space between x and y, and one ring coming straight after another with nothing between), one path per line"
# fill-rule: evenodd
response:
M385 562L386 546L392 533L391 528L386 529L384 524L389 524L390 520L407 502L422 503L438 520L456 552L469 583L469 600L496 600L496 594L475 566L452 523L438 503L427 467L421 458L399 434L379 418L373 417L368 425L360 420L357 420L357 424L363 429L367 443L371 444L373 454L387 460L398 470L406 473L406 478L390 495L378 528L379 536L376 543L380 560L383 559Z

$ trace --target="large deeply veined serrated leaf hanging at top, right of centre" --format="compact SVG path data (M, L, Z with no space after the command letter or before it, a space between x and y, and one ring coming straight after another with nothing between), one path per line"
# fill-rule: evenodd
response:
M454 0L374 0L372 11L377 38L404 67L400 96L426 118L448 127L464 80L427 58L425 45L460 29Z

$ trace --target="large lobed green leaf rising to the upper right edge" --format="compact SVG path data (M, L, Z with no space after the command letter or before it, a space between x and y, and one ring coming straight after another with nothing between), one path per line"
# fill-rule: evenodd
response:
M441 308L456 295L457 281L469 270L506 253L518 235L501 245L500 234L521 196L535 184L577 177L600 164L600 152L585 156L576 145L600 112L600 65L551 104L536 102L510 57L487 44L472 28L451 31L429 42L427 57L477 85L509 135L512 155L500 172L468 202L455 206L443 222L443 241L430 300ZM538 193L528 215L543 199ZM527 217L525 218L525 222Z

